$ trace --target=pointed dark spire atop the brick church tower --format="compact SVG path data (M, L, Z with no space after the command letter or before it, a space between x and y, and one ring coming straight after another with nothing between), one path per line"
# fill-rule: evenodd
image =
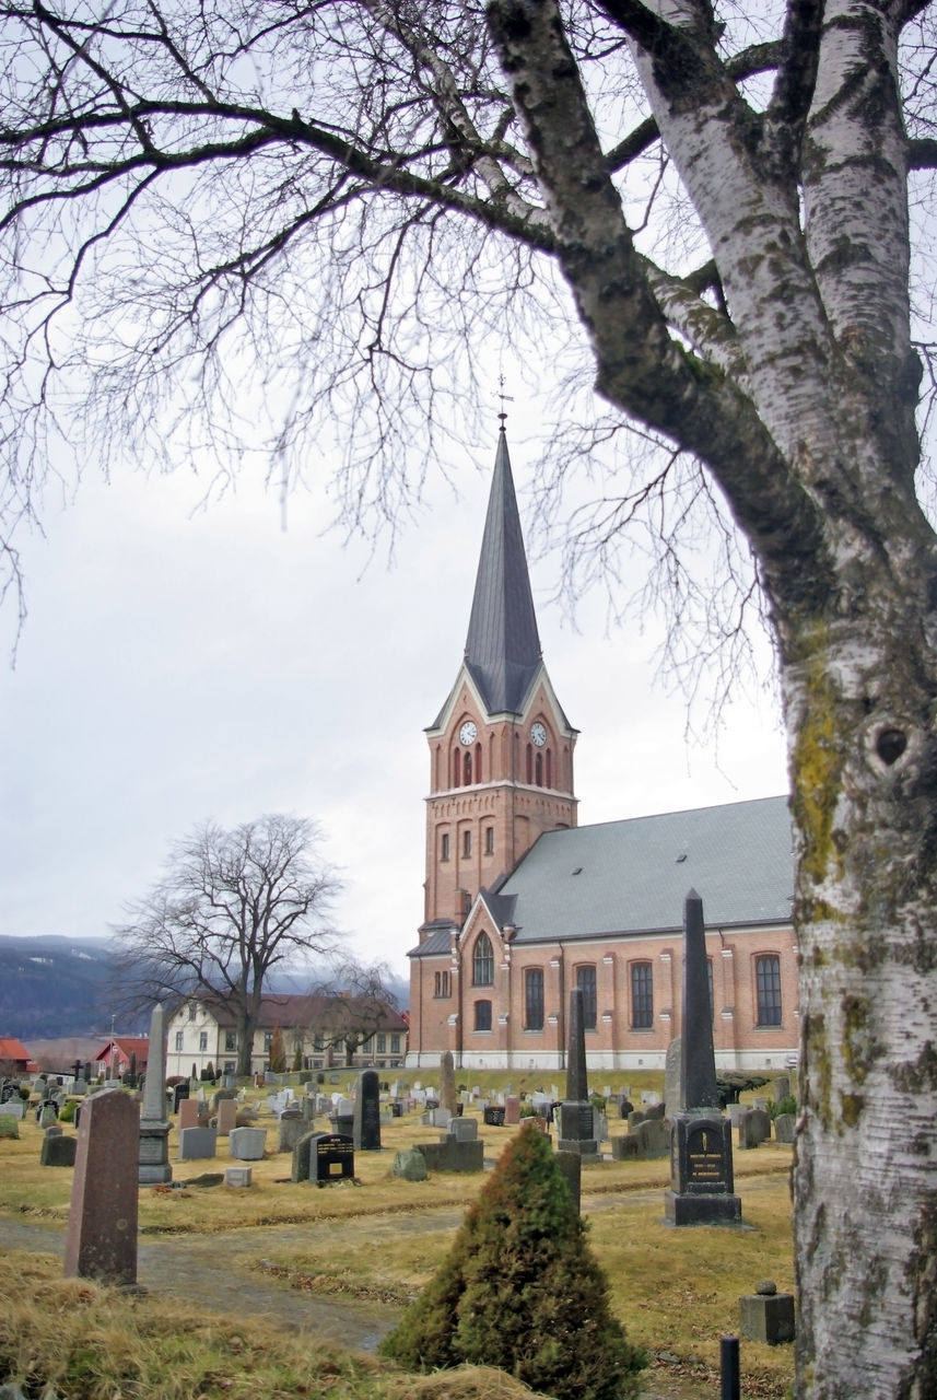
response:
M466 640L466 665L489 714L517 713L541 665L503 412L499 417L495 475Z

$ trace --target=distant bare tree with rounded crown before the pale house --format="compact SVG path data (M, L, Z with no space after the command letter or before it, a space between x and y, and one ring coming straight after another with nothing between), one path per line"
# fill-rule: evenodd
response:
M115 928L116 972L137 1001L199 994L234 1012L239 1075L250 1074L270 972L336 948L327 916L341 882L317 858L319 843L315 823L298 816L232 830L208 823L172 847L162 879Z

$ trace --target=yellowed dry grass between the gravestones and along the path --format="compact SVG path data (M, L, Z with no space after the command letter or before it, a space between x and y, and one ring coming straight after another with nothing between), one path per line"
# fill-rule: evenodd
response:
M615 1077L610 1078L617 1086ZM540 1086L543 1075L536 1079L530 1088ZM517 1085L517 1078L513 1082ZM631 1082L634 1088L634 1075ZM276 1145L273 1117L262 1119L262 1124L269 1128L269 1144ZM624 1131L625 1124L613 1121L611 1130ZM485 1155L496 1156L513 1131L481 1128ZM140 1226L145 1233L185 1235L320 1222L320 1229L301 1233L302 1246L271 1253L264 1245L267 1273L281 1277L282 1287L403 1305L432 1274L481 1180L436 1175L429 1182L410 1183L392 1175L396 1149L435 1135L417 1114L383 1127L386 1151L355 1156L359 1186L317 1190L295 1184L288 1180L289 1156L270 1154L252 1163L249 1190L194 1184L168 1191L144 1189ZM20 1141L0 1140L0 1215L39 1215L64 1224L73 1173L39 1168L41 1138L41 1130L25 1121ZM222 1144L220 1140L224 1152ZM228 1161L222 1155L215 1162L178 1162L176 1155L173 1131L176 1182L222 1172ZM719 1337L737 1331L738 1298L752 1292L764 1277L773 1278L780 1289L793 1289L789 1162L787 1148L736 1154L736 1189L743 1197L744 1219L752 1226L744 1231L667 1228L660 1194L668 1179L666 1161L604 1163L583 1172L583 1212L610 1280L614 1309L629 1340L659 1358L663 1354L659 1368L682 1378L682 1389L649 1382L655 1393L695 1394L694 1378L709 1393L717 1393ZM336 1222L334 1229L330 1222ZM336 1232L341 1238L340 1254ZM246 1319L206 1315L204 1322L193 1324L192 1309L185 1312L183 1327L182 1305L148 1296L129 1299L91 1284L63 1281L56 1277L60 1266L55 1260L43 1257L21 1266L25 1260L15 1259L0 1287L0 1379L11 1373L36 1379L42 1375L55 1385L56 1378L67 1375L70 1400L197 1400L215 1394L239 1400L260 1393L329 1393L336 1400L515 1400L529 1393L501 1372L477 1368L401 1378L359 1354L323 1352L319 1347L313 1364L302 1343L285 1331L274 1343L264 1330L262 1344ZM792 1348L745 1341L744 1393L782 1397L792 1366ZM172 1387L166 1375L173 1378Z

